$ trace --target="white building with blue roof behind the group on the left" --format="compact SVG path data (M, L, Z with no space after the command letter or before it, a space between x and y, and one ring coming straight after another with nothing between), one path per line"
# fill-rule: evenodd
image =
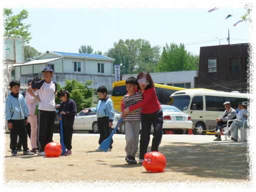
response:
M11 74L12 79L26 84L29 78L42 76L43 68L50 66L53 69L52 80L60 86L64 86L66 79L76 79L80 82L92 80L89 88L105 85L111 90L114 82L113 61L113 58L97 54L46 51L33 61L13 64Z

